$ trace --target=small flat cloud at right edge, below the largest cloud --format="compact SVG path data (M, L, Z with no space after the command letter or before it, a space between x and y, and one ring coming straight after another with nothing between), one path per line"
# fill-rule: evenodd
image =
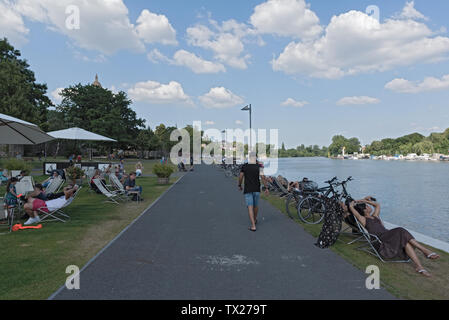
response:
M420 93L449 89L449 74L441 79L427 77L421 82L414 82L402 78L394 79L385 85L385 88L399 93Z

